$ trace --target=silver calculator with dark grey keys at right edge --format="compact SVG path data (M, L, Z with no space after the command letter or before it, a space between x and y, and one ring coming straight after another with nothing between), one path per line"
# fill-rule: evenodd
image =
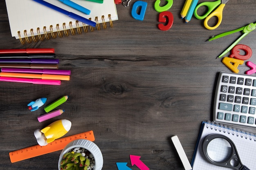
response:
M213 121L256 128L256 76L220 72Z

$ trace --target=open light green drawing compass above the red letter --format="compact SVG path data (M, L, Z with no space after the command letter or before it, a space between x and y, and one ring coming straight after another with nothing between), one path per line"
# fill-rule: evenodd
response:
M227 48L227 50L225 50L222 54L220 54L217 58L220 58L220 57L223 57L225 54L227 54L231 49L233 49L233 47L238 44L238 42L240 40L242 40L247 34L249 34L251 31L253 31L254 29L256 29L256 22L255 23L250 23L246 26L243 26L241 28L238 28L238 29L235 29L235 30L232 30L232 31L228 31L228 32L225 32L225 33L221 33L219 35L215 35L215 36L212 36L209 40L207 41L212 41L212 40L216 40L218 38L221 38L221 37L224 37L226 35L230 35L232 33L236 33L236 32L239 32L239 31L242 31L242 35L233 43L229 46L229 48Z

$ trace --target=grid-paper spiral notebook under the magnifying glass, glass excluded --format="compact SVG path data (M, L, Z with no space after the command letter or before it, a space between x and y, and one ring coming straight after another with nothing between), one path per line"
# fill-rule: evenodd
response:
M205 158L202 151L202 140L209 134L221 134L234 142L238 155L243 165L250 170L256 170L256 137L252 132L244 131L216 122L202 122L198 142L192 159L193 170L233 170L213 165Z

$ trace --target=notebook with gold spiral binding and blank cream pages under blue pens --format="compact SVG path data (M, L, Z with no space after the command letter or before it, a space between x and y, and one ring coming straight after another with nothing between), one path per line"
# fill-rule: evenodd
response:
M87 0L72 0L89 9L91 11L90 15L77 11L59 0L45 1L96 22L95 29L97 30L113 27L112 21L118 20L114 0L104 0L102 4ZM74 20L63 13L32 0L5 0L5 2L11 35L16 39L20 39L22 44L56 38L57 36L63 37L70 34L94 31L94 27Z

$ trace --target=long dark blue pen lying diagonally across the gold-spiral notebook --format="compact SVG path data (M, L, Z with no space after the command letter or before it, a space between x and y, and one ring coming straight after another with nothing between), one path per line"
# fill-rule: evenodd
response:
M40 3L40 4L42 4L42 5L45 5L46 7L49 7L49 8L51 8L51 9L54 9L54 10L56 10L56 11L58 11L58 12L61 12L61 13L65 14L65 15L68 15L70 18L74 18L75 20L81 21L81 22L83 22L83 23L85 23L85 24L88 24L88 25L90 25L90 26L93 26L93 27L96 26L96 22L93 22L93 21L91 21L91 20L88 20L88 19L86 19L86 18L83 18L82 16L77 15L77 14L75 14L75 13L66 11L65 9L62 9L62 8L60 8L60 7L57 7L57 6L55 6L55 5L53 5L53 4L50 4L50 3L48 3L48 2L45 2L44 0L34 0L34 1L36 1L36 2L38 2L38 3Z

